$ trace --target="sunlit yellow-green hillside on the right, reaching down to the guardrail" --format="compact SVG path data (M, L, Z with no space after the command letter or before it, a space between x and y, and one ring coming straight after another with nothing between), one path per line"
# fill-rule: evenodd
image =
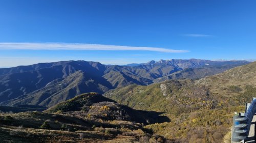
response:
M233 112L243 111L239 105L256 95L255 75L256 62L199 80L130 85L104 96L135 109L165 111L172 122L147 128L177 142L222 142Z

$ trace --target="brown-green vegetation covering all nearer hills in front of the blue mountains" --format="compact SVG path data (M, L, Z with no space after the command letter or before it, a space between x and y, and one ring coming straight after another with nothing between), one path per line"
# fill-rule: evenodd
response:
M199 80L133 84L105 94L130 107L88 93L45 112L0 113L0 139L228 142L233 112L243 111L244 106L239 105L256 95L252 68L246 68L249 73L243 70L243 75L232 69Z

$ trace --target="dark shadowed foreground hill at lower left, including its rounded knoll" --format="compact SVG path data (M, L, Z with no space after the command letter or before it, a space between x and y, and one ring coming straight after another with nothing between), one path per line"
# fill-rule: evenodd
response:
M28 105L27 105L28 106ZM161 113L135 110L97 93L78 95L44 112L0 113L4 142L136 142L170 140L144 128L169 122Z

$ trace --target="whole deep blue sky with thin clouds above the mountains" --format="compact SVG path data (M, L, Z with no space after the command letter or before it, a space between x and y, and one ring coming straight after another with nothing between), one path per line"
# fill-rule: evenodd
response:
M256 59L255 7L254 0L0 0L0 67Z

